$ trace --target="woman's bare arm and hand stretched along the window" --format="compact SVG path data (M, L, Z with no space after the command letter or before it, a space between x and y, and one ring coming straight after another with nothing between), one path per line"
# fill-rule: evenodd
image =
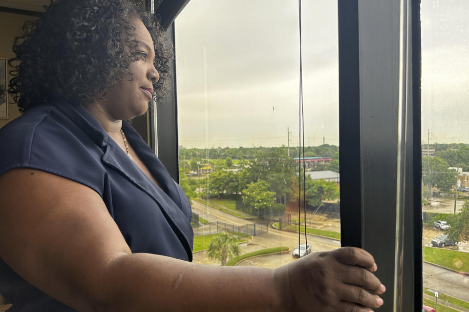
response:
M373 258L362 250L312 254L276 270L132 254L96 192L42 171L0 177L0 214L0 257L78 311L345 311L346 301L378 307L376 296L361 291L381 293L369 272Z

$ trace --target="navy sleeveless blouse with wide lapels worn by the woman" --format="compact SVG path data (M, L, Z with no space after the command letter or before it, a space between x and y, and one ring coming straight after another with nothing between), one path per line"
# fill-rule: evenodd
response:
M39 105L0 129L0 176L31 168L84 184L101 195L132 253L192 261L186 195L128 122L122 128L161 188L83 106L66 103ZM0 294L13 303L9 312L74 311L29 284L1 258Z

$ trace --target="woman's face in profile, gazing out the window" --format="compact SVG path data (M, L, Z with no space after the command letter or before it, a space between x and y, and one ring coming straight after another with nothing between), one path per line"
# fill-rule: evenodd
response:
M153 65L155 50L147 28L137 18L132 21L132 26L136 28L132 39L138 44L130 53L135 54L138 60L128 66L131 75L105 90L106 95L99 100L114 119L129 120L145 114L153 94L153 82L160 78Z

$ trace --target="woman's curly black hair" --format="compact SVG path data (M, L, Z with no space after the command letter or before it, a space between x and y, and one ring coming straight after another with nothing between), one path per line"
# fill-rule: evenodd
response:
M128 0L51 0L40 19L23 25L13 45L16 58L8 61L14 68L8 92L20 111L50 101L85 104L102 97L138 59L132 52L135 17L154 42L160 79L153 84L153 98L163 97L172 52L153 15Z

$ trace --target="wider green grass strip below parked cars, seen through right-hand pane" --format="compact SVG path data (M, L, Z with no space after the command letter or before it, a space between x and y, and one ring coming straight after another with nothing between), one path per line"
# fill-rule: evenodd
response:
M469 272L469 253L424 246L422 254L424 261L460 272Z

